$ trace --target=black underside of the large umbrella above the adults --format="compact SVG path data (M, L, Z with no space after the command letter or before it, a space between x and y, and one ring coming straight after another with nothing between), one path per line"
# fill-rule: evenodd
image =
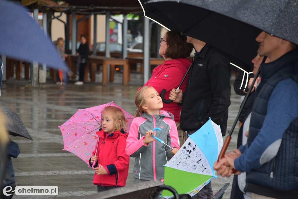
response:
M261 30L218 14L213 10L198 7L206 2L211 2L211 5L217 5L216 7L222 10L229 10L231 4L224 4L224 1L154 0L147 1L144 4L144 10L146 16L156 21L162 21L163 19L158 17L158 13L164 13L170 18L164 22L165 27L169 29L178 27L182 34L197 38L225 51L232 55L230 60L233 64L249 70L246 65L252 66L251 61L256 56L258 49L255 38ZM209 6L206 7L209 8Z

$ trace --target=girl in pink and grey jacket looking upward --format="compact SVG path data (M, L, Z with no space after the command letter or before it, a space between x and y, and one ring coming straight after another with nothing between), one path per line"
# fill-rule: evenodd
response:
M136 158L133 177L146 181L163 179L163 165L179 149L179 138L176 123L173 120L174 116L170 112L159 110L162 108L162 100L153 87L142 87L136 94L135 104L138 110L131 123L125 148L127 155ZM140 116L139 112L141 113ZM151 129L156 127L162 130L153 132ZM174 149L172 150L165 144L156 141L152 135L156 135ZM139 181L135 180L135 182Z

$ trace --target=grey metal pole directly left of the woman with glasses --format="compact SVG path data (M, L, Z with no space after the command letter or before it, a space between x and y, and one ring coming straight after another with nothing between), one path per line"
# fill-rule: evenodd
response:
M144 17L144 77L143 84L145 84L149 79L149 70L150 70L150 27L149 27L149 19Z

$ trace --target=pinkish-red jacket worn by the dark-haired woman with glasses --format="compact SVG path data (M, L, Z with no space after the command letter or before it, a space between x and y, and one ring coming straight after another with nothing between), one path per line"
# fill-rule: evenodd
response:
M154 68L151 78L144 84L144 86L152 86L160 94L163 89L167 90L164 94L165 99L169 99L170 91L177 88L182 81L191 61L188 58L171 59L164 61ZM183 81L180 89L185 92L186 80ZM174 115L175 122L180 122L181 106L172 102L170 104L163 103L162 110L168 111Z

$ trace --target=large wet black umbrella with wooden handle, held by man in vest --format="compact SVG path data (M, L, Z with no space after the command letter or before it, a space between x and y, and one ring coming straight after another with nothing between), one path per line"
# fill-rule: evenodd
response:
M145 4L151 7L146 12L144 6L146 16L154 18L155 12L163 11L171 18L164 26L175 24L181 33L218 47L246 64L257 53L255 38L261 30L298 44L297 0L151 0ZM233 128L226 138L226 147L232 131ZM224 148L219 159L225 153Z

